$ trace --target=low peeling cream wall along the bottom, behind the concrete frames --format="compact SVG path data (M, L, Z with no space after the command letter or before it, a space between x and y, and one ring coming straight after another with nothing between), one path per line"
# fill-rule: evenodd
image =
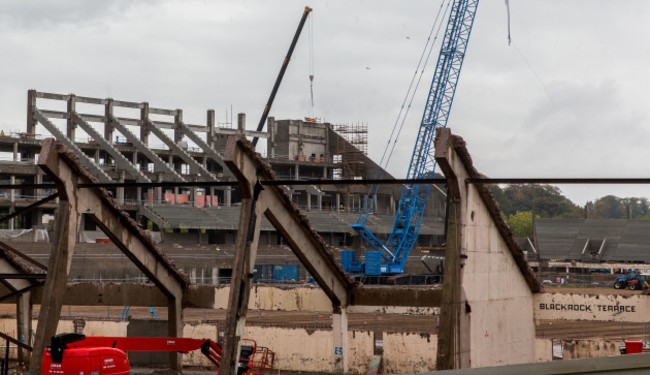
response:
M36 321L33 322L36 328ZM128 321L86 320L83 334L87 336L127 336ZM16 336L15 319L0 319L0 330ZM61 320L57 333L74 332L72 320ZM215 324L186 323L184 337L212 339L219 337ZM334 343L331 330L307 330L248 326L245 338L255 339L276 353L276 371L333 372ZM435 369L437 337L417 333L383 333L385 373L407 373ZM363 374L374 353L375 334L369 331L348 332L349 373ZM16 358L16 350L10 356ZM195 351L182 355L184 366L212 366Z

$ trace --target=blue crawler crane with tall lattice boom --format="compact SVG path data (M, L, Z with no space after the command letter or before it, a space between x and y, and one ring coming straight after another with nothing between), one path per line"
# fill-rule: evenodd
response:
M479 0L454 0L451 7L409 164L408 179L433 177L436 167L433 149L435 131L447 126L478 3ZM376 187L371 187L357 223L352 228L372 249L365 252L365 262L357 261L354 250L343 251L341 260L344 269L349 273L365 275L403 273L406 259L420 231L430 189L431 185L426 184L404 185L393 229L386 243L383 243L366 227L374 202L373 191L377 191Z

